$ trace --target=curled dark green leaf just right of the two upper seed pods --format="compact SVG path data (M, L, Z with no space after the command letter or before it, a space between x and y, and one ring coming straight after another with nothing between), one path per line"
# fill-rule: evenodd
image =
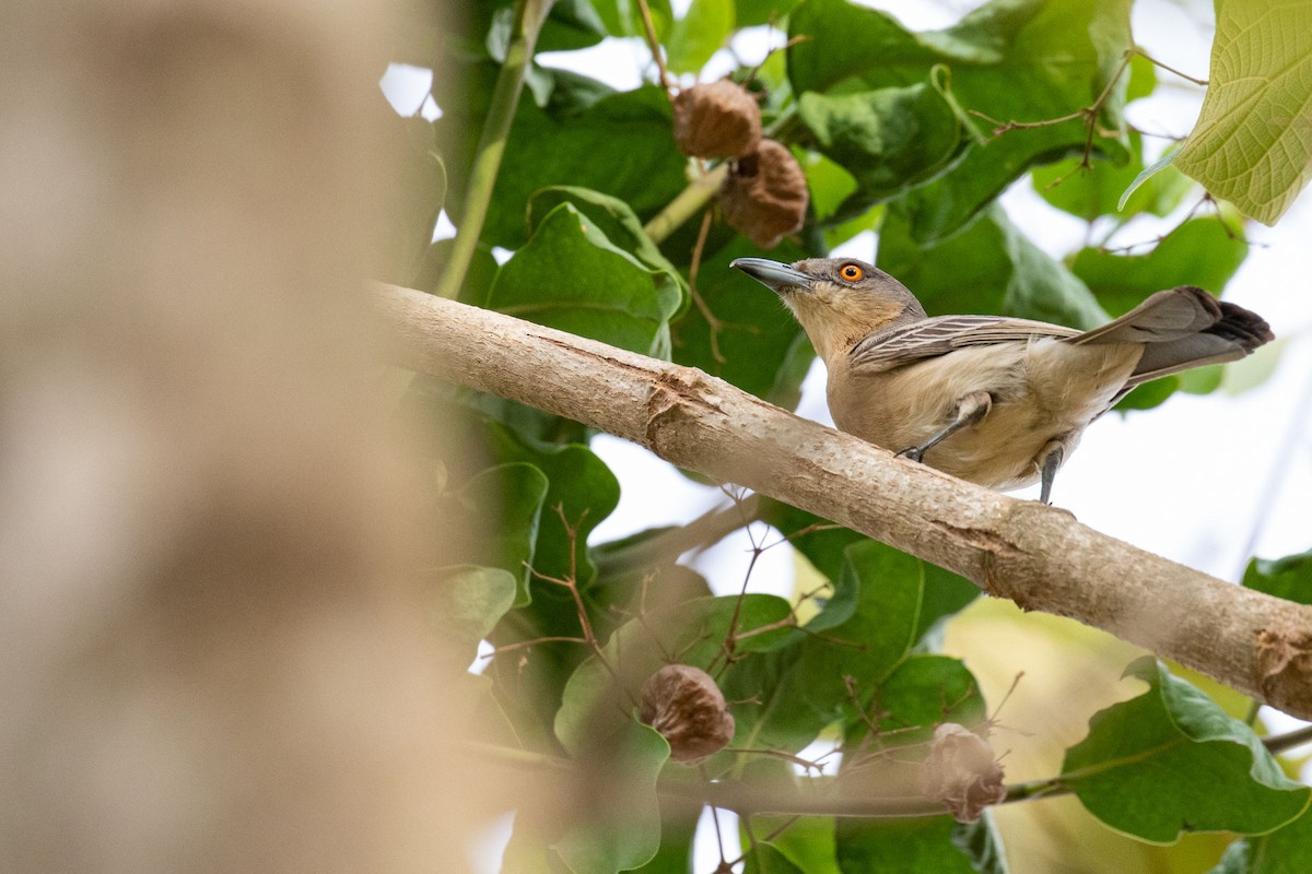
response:
M861 185L851 215L942 173L962 145L962 123L929 81L854 94L802 94L798 115L816 149Z

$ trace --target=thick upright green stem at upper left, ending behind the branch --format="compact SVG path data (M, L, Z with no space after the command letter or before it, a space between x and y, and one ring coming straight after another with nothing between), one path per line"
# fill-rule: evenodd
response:
M487 220L488 206L492 203L492 189L496 186L497 170L501 169L505 142L510 135L510 124L514 122L514 109L520 104L520 93L523 90L523 73L533 58L533 47L538 42L542 22L546 21L555 1L518 0L514 7L510 45L506 47L501 72L497 73L496 86L492 90L492 105L483 122L478 153L470 168L470 186L461 210L461 219L457 223L451 258L442 267L442 275L437 280L436 294L438 297L454 300L464 283L464 274L468 273L470 261L474 258L479 236L483 233L483 223Z

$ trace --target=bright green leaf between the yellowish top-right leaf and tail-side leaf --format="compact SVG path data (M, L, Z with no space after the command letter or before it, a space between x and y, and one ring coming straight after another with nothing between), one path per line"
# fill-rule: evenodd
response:
M1193 182L1179 170L1166 168L1139 186L1122 204L1120 195L1143 170L1141 147L1139 131L1131 131L1131 160L1124 166L1096 159L1090 166L1082 168L1081 159L1072 157L1035 168L1030 173L1034 190L1056 208L1085 221L1115 212L1124 212L1124 218L1139 212L1164 216L1179 206Z

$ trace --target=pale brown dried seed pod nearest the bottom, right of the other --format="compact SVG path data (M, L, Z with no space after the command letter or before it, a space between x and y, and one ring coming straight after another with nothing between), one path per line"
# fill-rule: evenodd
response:
M929 757L920 767L920 790L943 802L959 823L974 823L985 807L1006 798L1002 767L988 740L955 722L934 730Z

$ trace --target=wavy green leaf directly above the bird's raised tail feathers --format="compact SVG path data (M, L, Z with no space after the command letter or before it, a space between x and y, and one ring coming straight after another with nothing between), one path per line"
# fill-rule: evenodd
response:
M1248 244L1207 218L1183 223L1145 254L1081 249L1071 270L1107 312L1119 316L1162 288L1198 286L1220 294L1246 257Z

